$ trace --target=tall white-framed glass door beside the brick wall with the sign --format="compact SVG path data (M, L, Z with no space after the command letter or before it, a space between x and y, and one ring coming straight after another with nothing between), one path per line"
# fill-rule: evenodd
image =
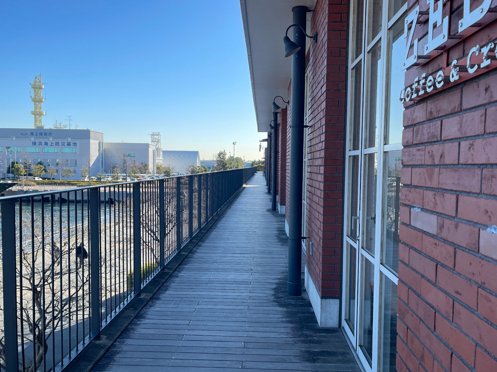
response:
M354 0L350 13L341 320L366 371L395 371L406 10Z

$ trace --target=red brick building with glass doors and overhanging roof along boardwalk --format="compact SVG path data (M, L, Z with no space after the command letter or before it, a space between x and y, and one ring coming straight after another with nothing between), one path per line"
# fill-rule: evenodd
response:
M294 6L318 35L297 171L319 324L341 327L364 371L497 371L497 1L240 2L260 132L274 97L291 100ZM292 103L278 100L289 221Z

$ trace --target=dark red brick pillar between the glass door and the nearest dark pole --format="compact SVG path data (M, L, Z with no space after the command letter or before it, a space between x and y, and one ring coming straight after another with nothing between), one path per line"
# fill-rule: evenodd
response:
M343 133L347 1L318 0L309 55L306 265L321 296L339 297L342 246ZM306 244L308 244L307 241Z

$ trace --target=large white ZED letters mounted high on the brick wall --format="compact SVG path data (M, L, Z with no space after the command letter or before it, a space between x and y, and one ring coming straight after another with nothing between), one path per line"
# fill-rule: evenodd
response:
M495 4L491 7L492 0L464 0L462 18L457 21L458 27L451 28L451 17L449 15L442 17L443 14L450 14L451 1L445 2L447 9L444 8L443 0L426 0L426 3L428 4L427 10L421 11L418 5L406 17L404 25L406 50L402 70L429 61L497 19L497 8ZM418 27L426 28L426 25L427 30L417 30ZM449 30L452 29L457 29L457 33L450 35ZM414 35L424 34L426 35L422 38L413 40Z

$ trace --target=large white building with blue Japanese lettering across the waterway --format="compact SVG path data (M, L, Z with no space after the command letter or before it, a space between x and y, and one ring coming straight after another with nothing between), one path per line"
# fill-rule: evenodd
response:
M90 175L103 171L103 133L90 129L57 128L0 128L0 168L2 172L11 162L21 164L28 159L39 161L47 168L56 168L55 179L61 169L70 168L79 179L82 167L90 163Z

